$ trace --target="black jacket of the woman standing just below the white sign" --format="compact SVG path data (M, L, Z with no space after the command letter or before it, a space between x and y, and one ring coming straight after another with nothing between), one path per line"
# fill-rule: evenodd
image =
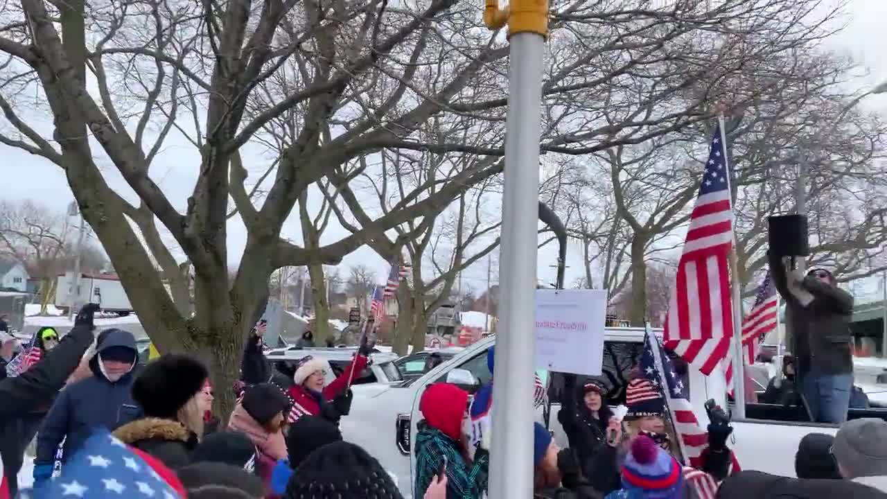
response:
M567 376L557 419L561 422L563 431L567 433L569 448L576 453L579 466L585 475L589 476L592 455L607 440L610 412L604 405L599 411L600 418L595 418L592 416L592 411L585 407L583 397L584 392L582 387L577 388L575 376Z

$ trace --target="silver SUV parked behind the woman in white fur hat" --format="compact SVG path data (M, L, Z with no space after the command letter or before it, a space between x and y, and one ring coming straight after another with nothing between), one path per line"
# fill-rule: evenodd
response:
M307 355L318 357L329 363L330 369L326 372L326 382L332 382L336 376L348 367L354 354L357 353L357 347L332 347L332 348L298 348L290 346L287 348L278 348L265 352L265 357L272 363L278 362L296 362ZM400 383L403 378L400 376L400 370L394 364L397 356L394 353L373 352L370 354L370 362L366 368L360 373L355 373L351 384L371 384L371 383Z

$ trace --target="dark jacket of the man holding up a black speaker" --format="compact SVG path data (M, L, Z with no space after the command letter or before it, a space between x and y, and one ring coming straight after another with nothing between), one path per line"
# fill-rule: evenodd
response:
M791 352L795 356L797 376L804 377L810 372L851 373L852 295L808 275L802 287L812 294L813 301L804 306L789 290L788 276L780 258L770 256L770 275L786 303L786 320L791 325Z

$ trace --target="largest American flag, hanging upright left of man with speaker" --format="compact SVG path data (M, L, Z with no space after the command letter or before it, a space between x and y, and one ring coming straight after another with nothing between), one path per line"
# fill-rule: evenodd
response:
M665 345L705 375L726 357L733 337L727 264L733 210L724 146L718 122L665 320Z

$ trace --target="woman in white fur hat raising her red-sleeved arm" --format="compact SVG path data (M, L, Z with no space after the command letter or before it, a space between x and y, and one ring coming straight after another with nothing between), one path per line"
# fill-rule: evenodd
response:
M330 384L326 384L325 360L310 355L299 360L293 375L293 386L287 391L293 400L293 408L287 417L289 423L310 415L321 416L338 424L341 416L347 416L351 406L351 391L348 386L351 373L364 370L372 349L364 337L355 359Z

